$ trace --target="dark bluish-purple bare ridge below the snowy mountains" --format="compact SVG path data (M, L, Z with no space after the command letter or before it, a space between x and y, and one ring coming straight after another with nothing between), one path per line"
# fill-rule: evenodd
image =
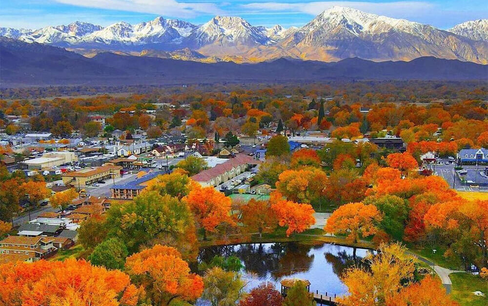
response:
M488 65L435 57L373 62L347 58L322 62L280 58L260 63L202 63L173 58L118 55L92 58L40 43L0 38L0 87L64 85L178 85L276 83L324 80L479 80ZM190 50L184 50L186 56Z

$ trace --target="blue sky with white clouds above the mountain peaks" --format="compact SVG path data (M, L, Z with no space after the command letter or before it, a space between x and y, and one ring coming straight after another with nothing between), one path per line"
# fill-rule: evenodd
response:
M76 20L107 26L163 16L201 24L215 15L240 16L253 25L301 26L333 6L431 24L441 29L488 18L487 0L0 0L0 26L39 28Z

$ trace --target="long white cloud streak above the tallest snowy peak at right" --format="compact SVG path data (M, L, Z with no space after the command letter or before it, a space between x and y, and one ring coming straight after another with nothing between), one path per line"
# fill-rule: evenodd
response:
M243 4L244 9L252 11L294 11L310 15L318 15L333 6L346 6L368 13L397 16L415 16L434 8L432 3L423 1L397 1L397 2L364 2L364 1L316 1L305 3L256 2Z

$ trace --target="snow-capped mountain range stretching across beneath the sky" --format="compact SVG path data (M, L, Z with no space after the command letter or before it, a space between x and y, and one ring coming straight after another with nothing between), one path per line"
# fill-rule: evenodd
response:
M324 61L361 57L381 61L423 56L488 62L488 19L468 21L445 31L338 6L303 27L289 29L280 25L253 26L240 17L216 16L202 25L158 17L134 25L117 22L107 27L77 21L37 30L0 28L0 36L63 46L81 53L108 50L147 55L155 52L142 51L189 48L204 57L249 62L279 57Z

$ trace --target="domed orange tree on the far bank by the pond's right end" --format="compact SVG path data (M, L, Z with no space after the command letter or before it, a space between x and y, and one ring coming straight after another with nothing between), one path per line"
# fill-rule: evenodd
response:
M375 234L382 219L381 212L374 205L349 203L334 210L324 230L346 234L348 241L357 243L359 239Z

